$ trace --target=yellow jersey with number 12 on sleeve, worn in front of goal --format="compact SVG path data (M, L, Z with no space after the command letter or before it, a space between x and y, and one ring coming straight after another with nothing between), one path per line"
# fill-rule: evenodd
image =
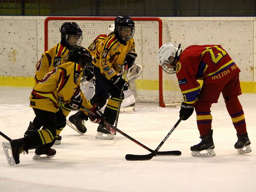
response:
M100 72L110 80L124 68L124 59L127 53L135 53L135 43L133 38L121 43L113 34L105 39L101 49L100 60L97 62Z

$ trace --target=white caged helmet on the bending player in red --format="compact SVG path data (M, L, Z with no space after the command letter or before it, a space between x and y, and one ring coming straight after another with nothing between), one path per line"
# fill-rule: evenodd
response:
M157 62L164 72L168 74L176 73L175 61L180 55L182 50L179 47L175 47L172 43L163 44L157 54Z

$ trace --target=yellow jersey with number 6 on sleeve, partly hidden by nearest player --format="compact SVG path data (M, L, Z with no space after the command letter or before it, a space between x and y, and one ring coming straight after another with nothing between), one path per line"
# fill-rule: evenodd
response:
M67 47L58 43L42 54L41 59L36 63L35 86L46 73L68 59L68 52L69 50Z

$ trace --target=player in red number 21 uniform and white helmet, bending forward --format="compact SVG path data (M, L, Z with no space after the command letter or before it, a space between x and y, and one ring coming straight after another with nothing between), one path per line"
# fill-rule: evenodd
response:
M217 103L220 93L237 132L235 148L238 153L250 153L250 140L246 131L244 111L238 100L241 95L240 69L221 45L191 45L183 52L172 43L164 44L158 51L158 62L169 74L176 73L183 102L180 117L187 120L196 110L196 122L202 141L192 146L192 156L215 156L212 139L212 103ZM203 86L197 80L203 80ZM246 148L246 149L244 149ZM207 153L200 154L200 151Z

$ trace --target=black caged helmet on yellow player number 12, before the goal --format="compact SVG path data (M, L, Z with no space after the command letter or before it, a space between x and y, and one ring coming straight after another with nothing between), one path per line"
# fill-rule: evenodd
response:
M115 19L115 34L122 41L129 41L135 32L134 22L129 16L119 15Z

